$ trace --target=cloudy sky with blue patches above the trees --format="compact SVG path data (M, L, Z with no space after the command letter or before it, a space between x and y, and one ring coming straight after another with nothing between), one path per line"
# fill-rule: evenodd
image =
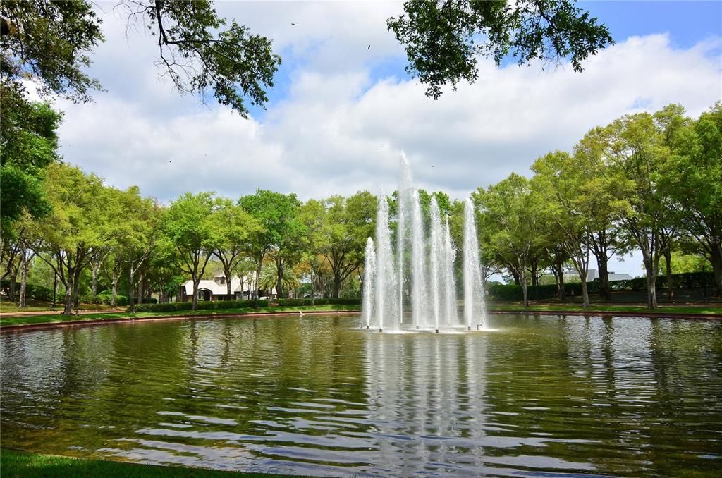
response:
M98 4L105 43L88 69L105 91L92 103L56 100L61 154L164 203L257 188L300 199L390 194L401 151L417 187L463 199L512 172L531 175L537 157L622 115L681 103L698 116L722 99L719 1L582 1L615 40L582 73L482 58L477 82L439 100L406 75L386 29L400 2L219 1L222 17L271 38L283 59L266 109L248 119L175 92L155 66L155 38L142 26L126 32L114 5ZM637 276L640 264L635 255L610 270Z

